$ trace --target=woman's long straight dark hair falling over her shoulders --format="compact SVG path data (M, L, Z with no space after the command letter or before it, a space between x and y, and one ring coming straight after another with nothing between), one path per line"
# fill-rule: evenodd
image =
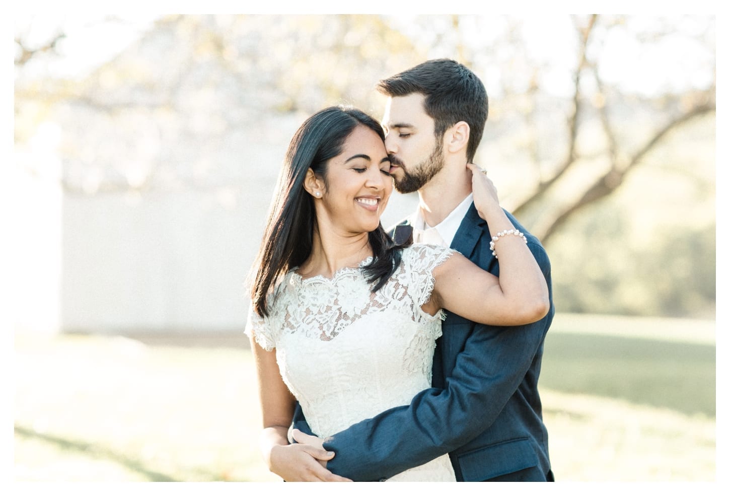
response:
M269 315L267 299L281 275L299 267L312 253L316 222L314 199L304 189L307 170L326 180L327 161L342 153L342 146L357 126L372 129L385 140L383 128L361 110L327 107L297 129L286 151L283 168L272 199L264 238L252 272L251 301L259 316ZM401 262L397 246L378 224L368 233L373 260L363 267L372 291L382 288Z

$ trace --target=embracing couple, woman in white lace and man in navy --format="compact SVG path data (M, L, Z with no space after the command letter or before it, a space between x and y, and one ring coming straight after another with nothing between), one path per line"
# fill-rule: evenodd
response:
M537 380L550 262L471 163L478 77L380 81L383 126L329 107L296 131L246 332L269 470L285 481L552 481ZM416 212L380 224L393 187Z

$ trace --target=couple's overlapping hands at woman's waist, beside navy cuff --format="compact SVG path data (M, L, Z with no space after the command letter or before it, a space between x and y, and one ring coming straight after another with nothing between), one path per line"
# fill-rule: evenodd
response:
M294 431L294 435L307 436L298 430ZM319 439L314 436L307 438ZM334 453L322 448L321 440L319 447L306 443L274 446L269 454L269 470L288 482L352 482L349 478L337 476L325 468L327 460L333 457Z

